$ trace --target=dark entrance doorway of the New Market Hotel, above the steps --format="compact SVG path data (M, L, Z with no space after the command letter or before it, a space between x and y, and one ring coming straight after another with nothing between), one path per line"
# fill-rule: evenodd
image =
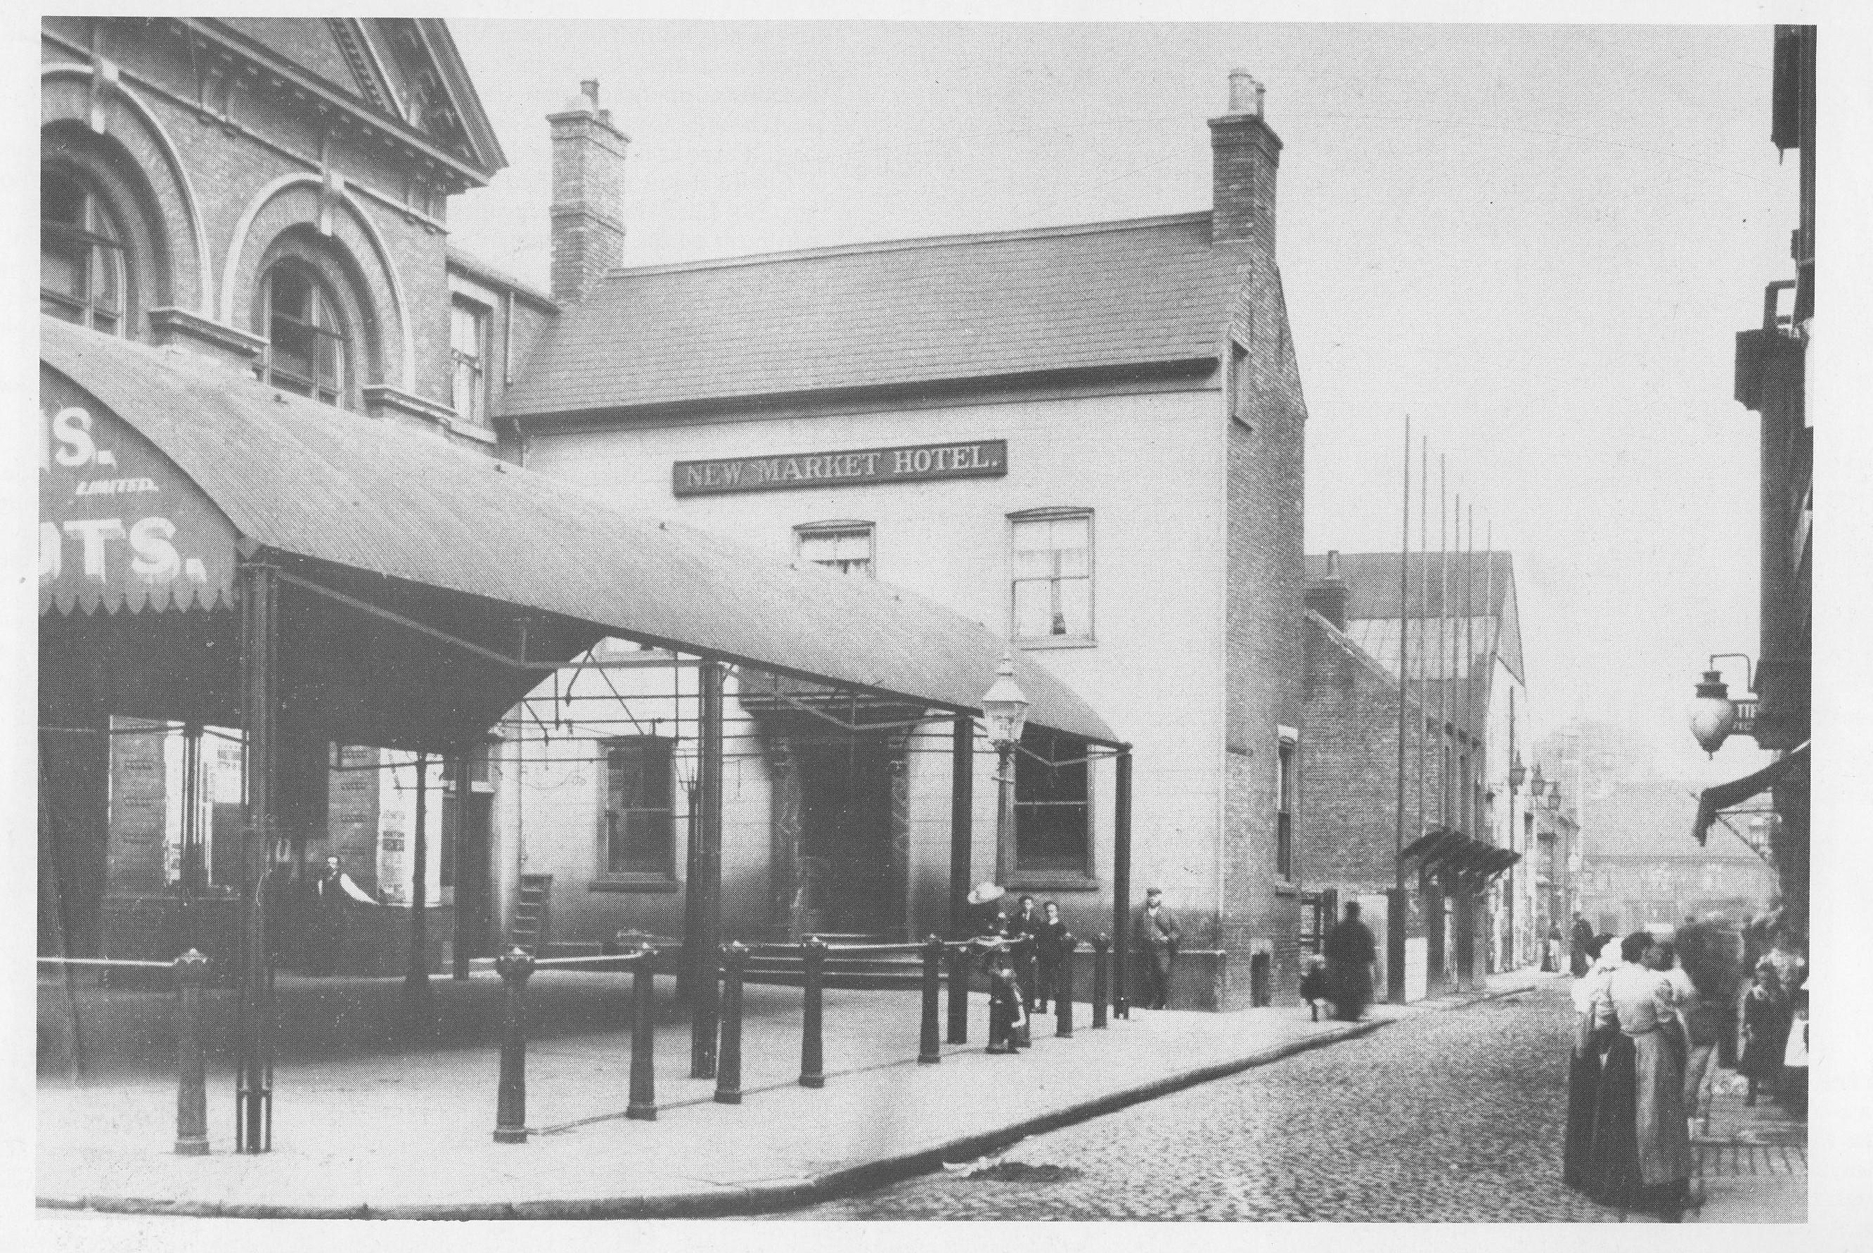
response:
M802 933L895 935L892 759L877 736L800 745Z

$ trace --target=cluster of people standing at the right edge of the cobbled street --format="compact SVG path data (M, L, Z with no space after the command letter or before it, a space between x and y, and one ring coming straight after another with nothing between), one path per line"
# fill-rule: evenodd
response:
M1583 925L1575 918L1575 929ZM1695 935L1680 933L1693 942ZM1618 1210L1678 1221L1689 1201L1691 1126L1736 1011L1725 963L1680 959L1650 931L1575 936L1575 1036L1568 1064L1562 1178ZM1738 1073L1776 1083L1789 1036L1787 1000L1764 957L1742 996Z

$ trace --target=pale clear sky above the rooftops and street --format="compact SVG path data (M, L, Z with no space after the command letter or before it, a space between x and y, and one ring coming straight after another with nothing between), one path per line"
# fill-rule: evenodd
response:
M1536 729L1631 727L1691 787L1708 654L1757 652L1734 333L1794 275L1768 26L536 22L451 32L506 148L453 240L547 285L545 114L631 135L626 264L1210 206L1231 67L1281 137L1307 551L1395 551L1403 421L1513 553ZM1733 695L1740 663L1725 663Z

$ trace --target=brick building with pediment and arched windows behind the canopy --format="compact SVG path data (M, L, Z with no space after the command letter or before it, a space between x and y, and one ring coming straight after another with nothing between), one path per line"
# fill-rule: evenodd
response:
M39 36L43 315L494 451L491 414L556 303L448 242L450 199L506 157L444 22L47 17ZM41 579L58 543L54 530ZM99 714L41 736L64 830L41 848L56 884L41 946L125 953L161 933L185 796L210 892L236 892L238 734L197 732L197 753L180 729L140 727ZM341 852L367 888L406 899L412 815L380 770L406 755L288 757L298 856ZM451 847L453 803L429 809L436 847ZM470 809L487 818L485 800ZM436 862L440 905L453 867ZM498 938L494 914L487 901L479 948Z

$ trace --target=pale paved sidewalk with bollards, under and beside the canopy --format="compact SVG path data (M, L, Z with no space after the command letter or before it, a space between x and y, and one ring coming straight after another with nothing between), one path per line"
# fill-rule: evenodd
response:
M1482 995L1551 978L1495 976ZM790 1208L1478 998L1379 1006L1364 1023L1311 1023L1305 1008L1139 1010L1099 1032L1088 1028L1086 1008L1075 1006L1071 1039L1053 1038L1053 1021L1038 1019L1032 1051L989 1056L981 1053L987 1013L978 996L972 1043L946 1045L942 1064L918 1066L916 993L828 991L826 1088L807 1090L794 1083L798 989L749 987L747 1096L742 1105L715 1105L710 1081L687 1079L687 1023L669 981L659 980L661 1113L657 1122L627 1122L618 1114L629 1036L607 1021L624 1002L626 978L556 980L581 981L560 987L554 976L536 976L530 1004L558 1004L594 1028L556 1032L551 1013L541 1025L543 1038L528 1049L528 1122L539 1131L528 1144L493 1142L498 1054L478 1030L466 1032L466 1041L423 1051L390 1043L313 1049L292 1038L283 1041L275 1073L275 1148L253 1157L232 1152L232 1075L225 1068L210 1073L208 1157L169 1152L174 1084L142 1066L125 1064L82 1084L41 1079L39 1204L459 1219L706 1217ZM444 981L436 993L438 1004L448 1002L446 1017L463 1025L479 1019L468 1008L493 1004L498 983L489 987L479 976L466 985ZM390 1000L365 996L350 1008L360 1004L382 1010ZM363 1038L388 1039L371 1030Z

